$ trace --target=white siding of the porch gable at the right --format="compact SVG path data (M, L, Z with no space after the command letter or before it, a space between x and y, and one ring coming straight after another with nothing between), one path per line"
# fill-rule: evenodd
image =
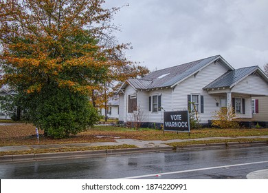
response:
M248 76L232 88L232 92L268 95L268 84L260 77Z

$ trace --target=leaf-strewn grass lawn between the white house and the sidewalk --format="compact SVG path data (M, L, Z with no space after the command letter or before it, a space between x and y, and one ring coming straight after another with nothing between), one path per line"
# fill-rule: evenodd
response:
M35 145L59 143L93 143L115 141L115 139L162 140L168 139L197 139L213 136L262 136L268 135L268 129L234 129L221 130L205 128L191 130L188 133L165 132L153 129L130 129L115 126L96 126L67 139L49 139L39 131L39 143L36 140L35 128L32 124L16 123L13 125L0 125L0 146L9 145Z

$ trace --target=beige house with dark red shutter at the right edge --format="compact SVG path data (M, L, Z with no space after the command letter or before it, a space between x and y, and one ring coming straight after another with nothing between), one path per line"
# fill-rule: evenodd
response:
M252 97L252 114L256 121L268 121L268 96Z

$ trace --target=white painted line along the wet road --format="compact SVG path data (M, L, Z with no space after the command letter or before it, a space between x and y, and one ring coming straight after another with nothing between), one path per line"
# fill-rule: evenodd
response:
M152 177L152 176L163 176L163 175L170 175L170 174L181 174L181 173L187 173L187 172L197 172L197 171L203 171L203 170L214 170L219 169L223 167L237 167L242 165L252 165L252 164L259 164L259 163L268 163L268 161L258 161L258 162L251 162L251 163L238 163L234 165L221 165L221 166L215 166L215 167L204 167L204 168L198 168L198 169L192 169L192 170L182 170L182 171L175 171L175 172L164 172L159 174L147 174L142 176L129 176L125 178L120 179L139 179L139 178L146 178L146 177Z

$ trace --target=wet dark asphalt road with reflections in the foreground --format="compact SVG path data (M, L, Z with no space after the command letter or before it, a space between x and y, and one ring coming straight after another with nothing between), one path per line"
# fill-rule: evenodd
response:
M0 163L0 179L246 179L268 169L268 146Z

